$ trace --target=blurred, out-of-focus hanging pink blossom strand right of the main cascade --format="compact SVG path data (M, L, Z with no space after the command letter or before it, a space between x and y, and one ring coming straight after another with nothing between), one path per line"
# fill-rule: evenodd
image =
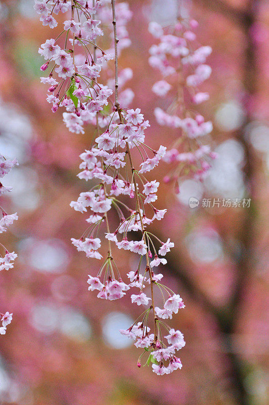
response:
M211 133L212 123L195 111L198 104L209 99L199 86L211 74L205 62L212 51L209 46L196 45L197 26L196 20L178 16L173 26L163 28L152 21L148 27L158 39L158 44L149 49L149 64L163 76L152 91L159 97L173 92L172 103L165 111L157 107L155 116L159 125L177 130L177 139L163 158L174 164L164 181L176 184L180 177L203 180L211 167L210 160L216 157L210 146L201 142L201 137Z

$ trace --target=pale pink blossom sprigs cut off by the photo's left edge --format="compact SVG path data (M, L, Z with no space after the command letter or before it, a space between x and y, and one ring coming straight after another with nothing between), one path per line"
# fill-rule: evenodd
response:
M2 184L2 178L8 174L11 169L18 165L17 159L6 159L1 153L0 153L0 196L3 194L7 194L11 192L12 187L5 187ZM0 206L0 210L2 213L2 218L0 219L0 233L6 232L7 228L9 225L13 224L13 221L18 219L17 213L15 214L7 214L4 209ZM9 270L12 269L14 266L14 260L17 257L17 254L14 252L9 252L7 248L5 248L4 245L0 244L3 253L0 254L0 271L1 270ZM0 327L0 335L5 335L7 326L12 320L12 313L6 312L2 313L0 312L0 320L2 321L2 326Z

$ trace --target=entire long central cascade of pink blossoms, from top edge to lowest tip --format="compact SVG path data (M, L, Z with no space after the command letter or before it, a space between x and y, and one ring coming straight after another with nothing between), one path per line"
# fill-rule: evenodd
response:
M72 244L87 257L102 261L98 273L89 275L88 279L89 290L96 290L98 298L116 300L131 288L136 289L131 294L132 303L147 306L147 309L137 318L137 324L135 322L121 333L135 339L136 347L143 348L138 367L141 366L142 355L147 354L147 364L152 362L153 372L168 374L182 367L175 352L185 342L181 332L171 329L164 319L172 318L173 313L184 308L184 304L179 295L162 284L163 274L153 271L160 264L167 263L164 256L174 244L170 239L161 241L148 230L149 225L155 220L160 221L167 210L158 210L153 205L158 198L160 183L148 181L144 173L159 164L166 148L161 145L158 150L153 150L145 143L145 131L150 126L148 120L144 119L139 108L126 108L132 101L133 92L126 89L118 96L118 90L132 76L128 68L118 74L118 50L130 45L126 24L131 12L125 3L115 6L114 0L110 5L107 1L71 0L64 3L63 10L59 3L62 2L49 0L35 3L43 24L52 28L57 25L52 17L55 10L56 14L59 11L70 13L64 22L63 32L41 46L39 52L47 60L41 69L46 70L52 63L49 77L42 77L42 82L50 85L49 92L52 94L48 96L48 101L53 104L52 110L65 107L63 120L69 131L84 133L84 126L89 123L96 128L91 147L80 155L82 163L78 177L89 181L89 191L82 192L78 200L70 203L75 211L87 212L88 228L79 239L72 238ZM101 46L107 41L104 26L108 20L113 27L108 37L112 36L114 49L105 52ZM65 36L63 49L58 45L61 35ZM71 45L71 49L67 44ZM110 59L114 59L116 67L114 103L110 99L113 93L111 78L107 85L98 80L101 70L102 73L105 73L104 70L109 72ZM59 79L54 77L55 73ZM139 150L141 158L138 167L133 161L134 149ZM116 229L110 229L108 214L111 209L119 217ZM99 238L103 225L107 239L106 256L101 250ZM138 236L135 238L134 234ZM127 274L128 284L120 275L112 245L138 255L137 268ZM150 297L145 293L148 285ZM162 308L154 303L156 289L162 291ZM149 323L153 325L151 334ZM166 330L168 334L164 336Z

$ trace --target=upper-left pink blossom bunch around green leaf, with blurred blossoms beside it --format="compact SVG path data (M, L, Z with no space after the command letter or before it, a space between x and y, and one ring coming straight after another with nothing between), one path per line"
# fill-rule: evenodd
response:
M111 103L109 96L112 90L107 85L98 84L97 78L101 70L106 68L107 61L113 59L113 54L111 49L103 51L96 41L104 36L102 28L111 22L109 3L106 0L49 0L36 1L34 8L41 15L43 25L50 28L58 25L53 14L70 14L66 16L63 30L57 38L47 39L39 49L46 60L41 70L45 71L51 66L49 76L41 77L41 82L49 85L47 101L52 104L52 111L64 107L63 121L68 130L76 134L84 134L86 124L96 125L97 112L100 112L98 125L104 128L110 116L104 114L103 110L108 102ZM126 3L120 3L117 12L120 17L120 49L123 49L130 45L126 24L132 14ZM64 46L60 47L63 38ZM120 86L123 87L131 77L132 70L124 69L120 75ZM122 98L127 106L133 99L133 92L126 89Z

